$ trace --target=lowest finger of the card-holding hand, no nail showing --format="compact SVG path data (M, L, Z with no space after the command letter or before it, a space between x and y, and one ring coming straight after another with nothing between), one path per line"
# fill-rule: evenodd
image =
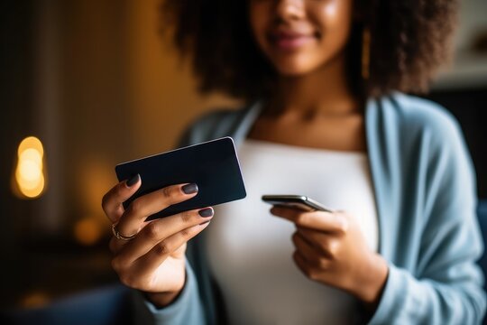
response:
M183 229L161 241L146 254L142 255L134 262L135 269L142 274L152 274L180 246L188 242L192 237L197 236L201 231L208 227L210 221L203 224Z

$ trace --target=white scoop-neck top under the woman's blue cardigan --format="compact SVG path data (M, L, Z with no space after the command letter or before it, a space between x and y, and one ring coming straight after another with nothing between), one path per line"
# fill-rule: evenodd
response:
M271 215L263 194L300 194L350 212L372 250L378 223L365 153L246 140L238 151L247 197L215 208L208 262L231 324L344 324L354 298L309 280L292 260L292 223Z

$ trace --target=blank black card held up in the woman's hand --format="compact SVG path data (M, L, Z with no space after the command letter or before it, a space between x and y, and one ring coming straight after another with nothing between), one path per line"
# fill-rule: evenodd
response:
M148 220L240 200L246 196L231 137L120 163L116 165L115 172L118 181L130 179L137 173L141 175L142 186L124 202L125 209L132 200L153 190L180 183L198 184L196 197L163 209Z

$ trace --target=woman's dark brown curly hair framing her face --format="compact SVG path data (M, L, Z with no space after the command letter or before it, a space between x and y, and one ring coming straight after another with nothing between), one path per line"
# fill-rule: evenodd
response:
M449 59L457 0L366 0L347 45L350 87L363 97L425 92ZM165 0L163 32L191 60L203 93L251 101L271 93L277 74L253 41L245 0ZM361 76L363 28L370 30L369 78ZM169 29L166 27L170 27Z

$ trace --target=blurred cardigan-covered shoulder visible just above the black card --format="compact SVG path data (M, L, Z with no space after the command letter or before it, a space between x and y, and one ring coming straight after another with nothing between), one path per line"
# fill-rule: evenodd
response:
M197 144L232 134L248 107L217 108L198 116L179 138L179 146Z

